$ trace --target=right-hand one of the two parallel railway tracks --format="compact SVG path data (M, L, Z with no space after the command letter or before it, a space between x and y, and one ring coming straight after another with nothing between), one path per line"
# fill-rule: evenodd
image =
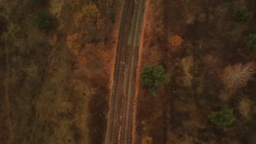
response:
M131 133L131 119L132 119L132 101L133 101L133 91L135 85L135 75L136 75L136 56L139 42L139 28L141 24L141 14L143 9L144 0L139 0L137 10L136 10L136 18L133 29L133 39L132 45L130 49L129 56L129 69L128 69L128 80L127 87L125 93L125 109L123 113L123 126L121 127L121 144L130 144L130 133Z

